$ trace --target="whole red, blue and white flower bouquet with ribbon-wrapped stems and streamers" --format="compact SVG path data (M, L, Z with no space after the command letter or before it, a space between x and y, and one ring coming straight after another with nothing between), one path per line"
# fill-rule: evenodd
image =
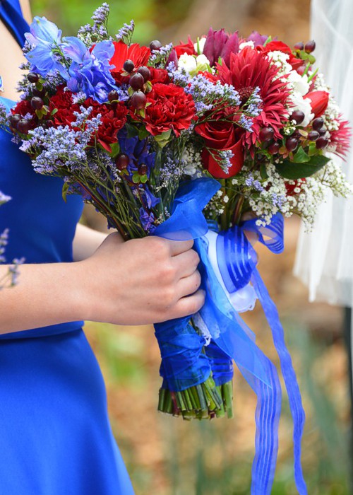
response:
M82 194L124 239L195 240L205 305L155 325L158 407L184 419L232 417L235 361L258 395L252 493L263 495L273 482L281 388L239 316L261 301L289 395L295 477L305 494L304 411L252 243L281 252L283 216L299 214L310 228L328 190L352 192L331 160L347 152L348 124L313 69L314 42L291 50L258 33L210 29L177 46L154 40L145 47L131 42L133 21L110 35L108 14L103 4L77 37L35 18L21 99L7 125L37 173L62 177L63 197Z

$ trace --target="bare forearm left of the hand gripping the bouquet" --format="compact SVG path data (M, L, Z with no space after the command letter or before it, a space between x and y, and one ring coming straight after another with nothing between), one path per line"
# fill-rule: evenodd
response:
M0 279L8 266L0 266ZM79 263L21 264L18 284L0 291L0 333L85 318Z

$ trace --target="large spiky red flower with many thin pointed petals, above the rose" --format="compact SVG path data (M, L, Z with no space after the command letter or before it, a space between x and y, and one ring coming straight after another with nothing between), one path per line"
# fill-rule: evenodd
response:
M246 103L256 87L260 88L262 112L253 119L253 132L244 134L246 144L249 147L254 145L263 127L272 127L274 136L280 139L280 129L288 115L285 104L289 90L286 84L276 77L277 68L257 50L246 47L237 54L231 54L229 68L217 64L217 69L220 80L234 86L242 103Z

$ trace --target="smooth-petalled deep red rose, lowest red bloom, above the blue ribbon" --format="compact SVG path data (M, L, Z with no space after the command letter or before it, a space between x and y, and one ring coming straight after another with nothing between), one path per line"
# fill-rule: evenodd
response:
M244 149L241 144L241 139L244 135L244 130L236 127L232 122L220 120L224 118L223 112L217 115L217 120L205 122L195 127L195 132L205 140L205 148L201 152L203 166L213 177L226 179L237 175L244 163ZM211 149L208 149L211 148ZM220 167L220 163L215 158L221 161L219 152L230 150L233 153L230 162L232 166L226 173Z

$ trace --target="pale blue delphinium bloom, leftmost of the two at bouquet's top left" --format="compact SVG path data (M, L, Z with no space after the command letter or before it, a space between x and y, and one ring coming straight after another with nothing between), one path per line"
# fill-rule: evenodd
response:
M30 70L45 77L52 71L67 76L67 67L63 64L61 30L45 17L35 16L30 25L30 33L25 33L30 50L25 53L30 62Z

